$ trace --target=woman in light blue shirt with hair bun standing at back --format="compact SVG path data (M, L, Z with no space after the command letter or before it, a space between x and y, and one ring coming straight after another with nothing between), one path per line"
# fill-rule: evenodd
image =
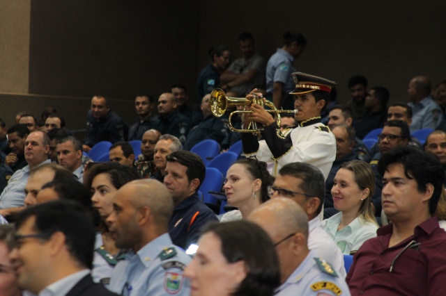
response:
M289 93L294 90L291 73L295 58L305 51L307 40L300 33L284 33L284 46L277 49L266 65L266 98L275 104L276 108L294 109L294 96ZM250 90L249 90L250 91Z

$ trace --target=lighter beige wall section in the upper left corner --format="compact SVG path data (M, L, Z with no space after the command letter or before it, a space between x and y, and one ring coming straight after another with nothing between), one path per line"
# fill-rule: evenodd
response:
M31 0L0 0L0 92L28 93Z

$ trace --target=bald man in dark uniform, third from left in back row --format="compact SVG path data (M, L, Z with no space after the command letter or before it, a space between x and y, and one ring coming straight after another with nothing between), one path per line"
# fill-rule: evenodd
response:
M169 133L180 139L185 144L187 133L190 130L190 120L183 113L176 110L174 94L164 92L158 99L158 114L160 117L155 122L153 129L160 131L162 135Z

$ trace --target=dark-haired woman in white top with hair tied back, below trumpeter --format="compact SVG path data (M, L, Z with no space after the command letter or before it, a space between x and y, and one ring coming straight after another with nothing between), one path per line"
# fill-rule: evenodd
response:
M222 221L246 219L256 207L270 199L268 186L273 182L263 161L245 158L233 163L224 179L223 190L228 204L238 210L224 214Z

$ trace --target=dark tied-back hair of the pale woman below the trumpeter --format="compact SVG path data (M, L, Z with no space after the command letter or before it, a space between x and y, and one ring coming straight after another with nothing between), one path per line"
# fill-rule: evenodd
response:
M245 158L233 163L233 165L235 164L243 165L252 180L260 179L262 182L260 190L261 202L263 203L270 199L270 196L268 195L268 186L274 183L274 177L268 172L266 163L264 161L257 161L255 158Z

